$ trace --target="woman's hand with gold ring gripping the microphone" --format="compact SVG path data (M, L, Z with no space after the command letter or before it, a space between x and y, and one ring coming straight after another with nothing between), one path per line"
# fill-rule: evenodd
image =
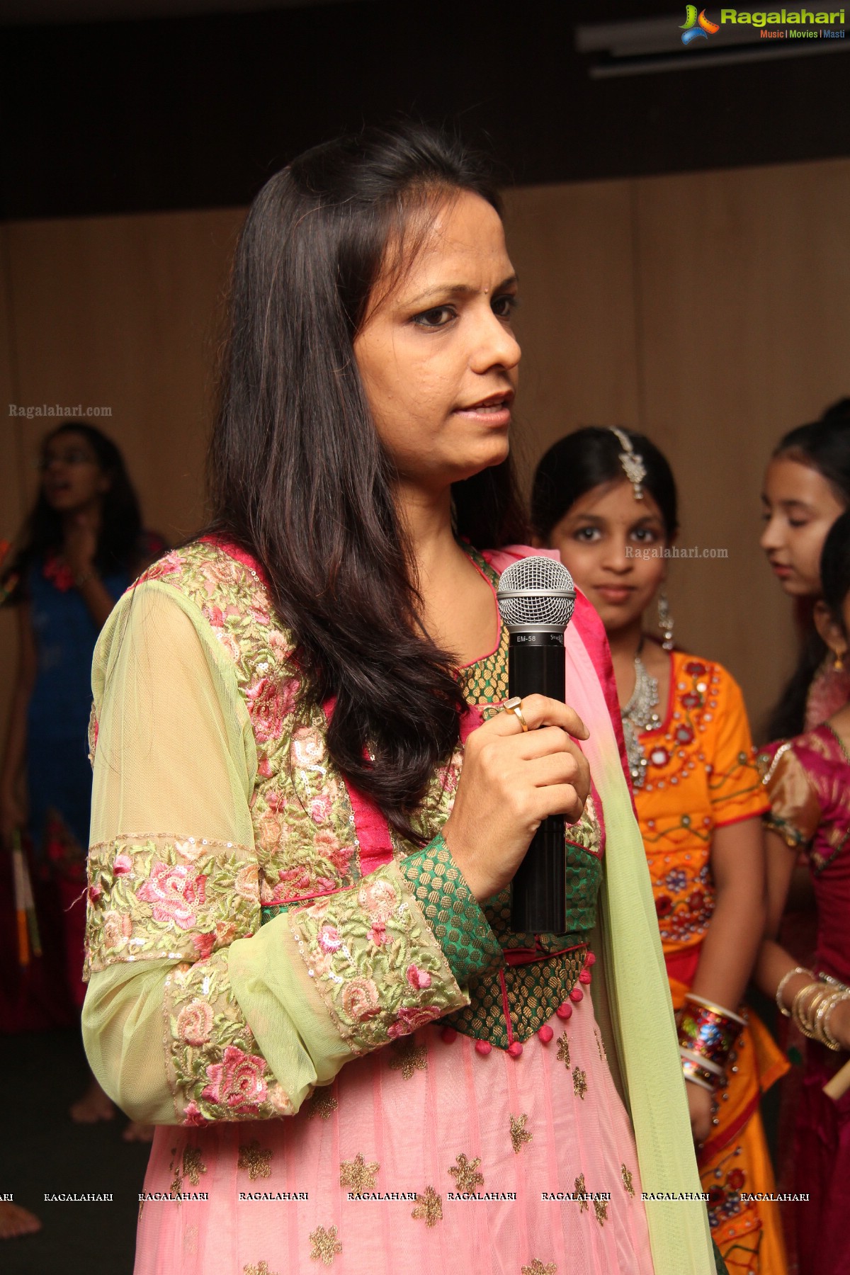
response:
M498 713L469 736L451 815L442 834L479 903L498 894L548 815L581 817L590 766L576 740L589 732L575 711L526 695L522 715Z

